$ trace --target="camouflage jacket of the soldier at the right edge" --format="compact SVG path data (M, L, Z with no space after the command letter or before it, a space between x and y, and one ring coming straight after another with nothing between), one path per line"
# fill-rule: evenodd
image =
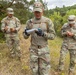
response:
M74 34L73 37L67 36L66 32L70 31ZM63 36L63 45L65 45L68 49L76 49L76 24L70 27L68 23L65 23L62 26L61 34Z

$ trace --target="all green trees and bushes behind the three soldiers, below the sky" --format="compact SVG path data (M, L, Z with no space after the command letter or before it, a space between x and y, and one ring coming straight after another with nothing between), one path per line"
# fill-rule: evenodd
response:
M33 17L32 9L30 9L30 6L33 6L33 3L35 0L11 0L12 2L6 2L5 0L0 1L0 21L6 16L6 8L12 7L15 11L15 16L18 17L22 24L25 24L26 21ZM13 2L16 1L15 4ZM44 5L44 16L49 17L54 25L55 30L58 36L60 36L60 30L64 23L67 22L67 18L69 15L74 14L76 15L76 5L68 6L63 8L59 8L56 6L55 9L47 9L47 3L41 1ZM1 23L0 23L1 26ZM4 37L4 34L0 30L0 39L2 40Z

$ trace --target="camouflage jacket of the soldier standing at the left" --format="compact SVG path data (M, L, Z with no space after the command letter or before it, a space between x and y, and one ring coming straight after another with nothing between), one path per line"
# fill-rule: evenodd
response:
M17 33L18 33L19 29L20 29L20 26L21 26L19 19L14 17L14 16L12 18L9 18L8 16L5 17L4 19L2 19L1 23L2 23L1 30L5 33L5 36L7 36L7 35L8 36L17 35ZM8 30L5 32L4 28L6 26L8 27ZM10 28L15 28L16 32L11 33Z

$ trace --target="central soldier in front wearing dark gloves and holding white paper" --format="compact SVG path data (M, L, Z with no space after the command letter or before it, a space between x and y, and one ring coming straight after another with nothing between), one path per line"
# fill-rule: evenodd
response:
M43 16L42 3L35 2L33 12L35 17L26 22L23 32L27 39L30 36L28 31L36 29L31 33L30 67L33 75L50 75L50 50L47 40L55 38L54 25Z

